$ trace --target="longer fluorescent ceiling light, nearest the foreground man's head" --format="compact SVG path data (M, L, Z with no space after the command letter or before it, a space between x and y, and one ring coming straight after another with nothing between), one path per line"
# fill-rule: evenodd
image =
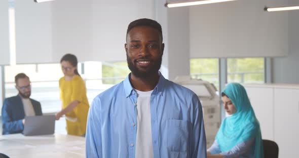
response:
M185 6L194 6L194 5L204 5L211 3L219 3L219 2L228 2L228 1L236 1L236 0L204 0L204 1L193 1L193 2L177 2L177 3L166 3L165 7L173 8L173 7L185 7Z

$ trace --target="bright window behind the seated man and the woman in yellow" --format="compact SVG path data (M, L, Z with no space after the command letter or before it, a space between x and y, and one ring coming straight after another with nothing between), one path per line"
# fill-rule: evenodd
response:
M84 67L78 63L78 71L85 81L90 104L93 98L123 81L130 72L127 62L84 62ZM57 112L61 109L58 81L63 73L60 63L5 66L6 98L18 94L14 80L15 75L20 72L29 76L31 82L30 98L41 102L43 113Z

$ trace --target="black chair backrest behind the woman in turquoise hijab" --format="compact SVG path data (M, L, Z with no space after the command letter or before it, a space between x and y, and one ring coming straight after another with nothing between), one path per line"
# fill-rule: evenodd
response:
M272 140L263 139L264 158L278 158L278 145Z

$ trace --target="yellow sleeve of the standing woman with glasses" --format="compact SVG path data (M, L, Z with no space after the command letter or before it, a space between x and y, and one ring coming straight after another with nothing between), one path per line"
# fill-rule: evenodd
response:
M81 80L74 80L72 84L72 93L71 93L71 98L70 100L77 100L79 102L82 102L83 100L83 95L85 93L84 91L84 82Z

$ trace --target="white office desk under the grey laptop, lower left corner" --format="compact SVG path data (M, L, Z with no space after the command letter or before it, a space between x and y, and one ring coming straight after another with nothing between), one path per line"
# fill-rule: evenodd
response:
M85 157L85 138L64 134L0 136L0 152L14 157Z

